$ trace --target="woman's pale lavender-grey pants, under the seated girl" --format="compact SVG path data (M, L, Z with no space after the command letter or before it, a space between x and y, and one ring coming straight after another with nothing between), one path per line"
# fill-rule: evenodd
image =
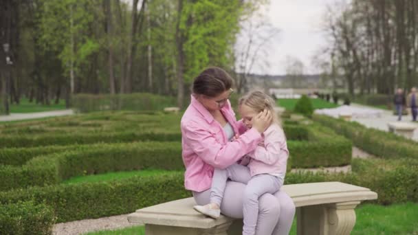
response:
M225 216L243 218L245 183L228 181L225 186L221 212ZM210 189L193 192L198 205L210 203ZM279 190L274 194L266 193L259 197L259 212L256 223L256 234L283 235L289 234L295 214L295 205L285 192Z

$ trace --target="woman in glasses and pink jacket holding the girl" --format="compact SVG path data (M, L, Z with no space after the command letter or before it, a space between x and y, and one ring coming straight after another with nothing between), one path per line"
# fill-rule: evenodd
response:
M254 150L272 120L272 115L263 111L244 133L245 126L236 122L228 100L231 86L232 78L223 69L204 70L193 82L191 102L181 118L184 185L192 191L198 205L209 203L214 168L227 168ZM228 133L237 138L228 141ZM243 218L244 190L245 184L228 181L221 204L223 214ZM294 213L294 203L285 192L263 194L259 199L256 234L289 234Z

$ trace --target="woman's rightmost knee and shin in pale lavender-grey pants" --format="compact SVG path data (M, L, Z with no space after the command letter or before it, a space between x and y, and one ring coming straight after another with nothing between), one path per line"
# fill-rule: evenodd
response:
M292 227L292 222L295 216L296 208L293 200L283 190L279 190L274 194L274 197L280 203L280 216L278 217L278 223L274 228L273 235L287 235ZM261 201L260 201L261 203ZM261 207L261 205L260 205ZM259 219L259 224L260 224Z

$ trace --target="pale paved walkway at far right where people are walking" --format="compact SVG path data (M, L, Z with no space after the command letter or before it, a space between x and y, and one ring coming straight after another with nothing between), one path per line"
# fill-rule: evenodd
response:
M353 107L363 107L367 109L375 109L373 107L364 106L361 104L351 104ZM367 118L359 118L359 117L353 117L354 122L359 122L360 124L363 124L364 126L367 126L369 128L376 128L382 131L389 131L388 123L389 122L409 122L413 123L412 116L411 115L404 115L402 116L401 121L397 121L397 115L393 115L392 111L379 109L380 111L383 111L382 117L367 117ZM418 123L417 123L418 126ZM413 140L418 141L418 128L415 130L414 135L412 137Z

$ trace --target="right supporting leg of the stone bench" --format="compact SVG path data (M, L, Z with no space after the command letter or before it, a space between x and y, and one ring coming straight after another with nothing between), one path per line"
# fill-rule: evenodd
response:
M360 201L309 205L297 208L298 235L345 235L355 224L354 208Z

